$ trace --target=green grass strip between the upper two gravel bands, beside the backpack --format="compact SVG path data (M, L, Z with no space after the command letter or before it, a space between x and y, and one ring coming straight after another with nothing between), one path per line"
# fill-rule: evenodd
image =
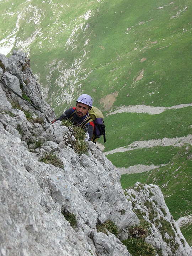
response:
M105 117L105 151L135 141L175 138L191 133L192 107L166 110L160 114L118 113Z

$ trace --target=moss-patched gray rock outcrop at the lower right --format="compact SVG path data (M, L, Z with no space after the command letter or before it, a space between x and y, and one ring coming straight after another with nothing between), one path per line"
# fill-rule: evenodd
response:
M124 192L133 202L134 212L149 223L147 242L161 251L163 256L191 255L191 248L172 218L159 186L137 182L134 188Z

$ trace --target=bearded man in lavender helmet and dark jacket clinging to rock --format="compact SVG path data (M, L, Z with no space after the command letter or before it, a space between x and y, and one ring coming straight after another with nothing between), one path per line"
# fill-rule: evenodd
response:
M69 119L75 126L79 126L86 132L86 141L91 140L94 131L94 121L89 116L89 110L93 105L93 100L90 95L82 94L76 100L76 107L68 108L59 118L55 121L62 121Z

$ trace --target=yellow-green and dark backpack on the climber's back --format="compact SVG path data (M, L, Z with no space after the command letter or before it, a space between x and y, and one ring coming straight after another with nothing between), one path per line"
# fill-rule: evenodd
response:
M90 117L94 120L95 127L94 132L92 135L92 142L96 143L96 140L98 140L101 135L103 135L103 140L106 142L105 139L105 123L104 123L104 116L100 110L96 107L92 107L89 111Z

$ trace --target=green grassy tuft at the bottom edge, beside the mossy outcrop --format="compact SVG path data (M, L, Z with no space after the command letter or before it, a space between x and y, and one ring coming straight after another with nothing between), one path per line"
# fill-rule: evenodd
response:
M122 240L122 243L126 245L127 250L132 256L155 256L156 250L153 245L148 244L143 239L129 238Z

